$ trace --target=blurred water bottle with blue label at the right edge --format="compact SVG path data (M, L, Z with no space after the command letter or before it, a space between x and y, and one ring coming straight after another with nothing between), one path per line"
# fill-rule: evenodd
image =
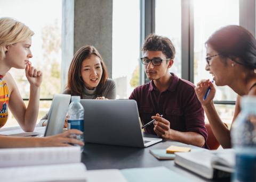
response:
M233 181L256 181L256 97L244 96L242 111L231 128L236 153Z

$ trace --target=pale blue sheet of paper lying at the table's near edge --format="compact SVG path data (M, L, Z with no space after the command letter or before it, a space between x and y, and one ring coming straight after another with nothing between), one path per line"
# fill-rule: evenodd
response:
M165 181L179 181L187 182L191 179L185 178L166 167L154 168L131 168L121 170L124 177L129 182L165 182Z

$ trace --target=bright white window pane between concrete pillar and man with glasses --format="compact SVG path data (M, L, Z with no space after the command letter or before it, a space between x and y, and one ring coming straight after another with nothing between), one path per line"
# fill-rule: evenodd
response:
M112 55L117 99L127 99L139 85L140 1L113 0Z

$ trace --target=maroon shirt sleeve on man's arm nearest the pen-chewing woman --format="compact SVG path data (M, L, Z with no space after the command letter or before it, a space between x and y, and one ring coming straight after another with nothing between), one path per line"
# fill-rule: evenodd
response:
M196 132L201 134L204 137L206 143L208 133L204 123L203 107L196 96L194 88L188 88L186 95L187 96L184 97L184 103L186 103L184 109L186 129L188 132Z

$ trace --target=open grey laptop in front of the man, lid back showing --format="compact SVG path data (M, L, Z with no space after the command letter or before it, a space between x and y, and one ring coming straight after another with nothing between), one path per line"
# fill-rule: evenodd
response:
M134 100L82 99L81 103L85 142L144 148L162 141L162 138L142 137Z

